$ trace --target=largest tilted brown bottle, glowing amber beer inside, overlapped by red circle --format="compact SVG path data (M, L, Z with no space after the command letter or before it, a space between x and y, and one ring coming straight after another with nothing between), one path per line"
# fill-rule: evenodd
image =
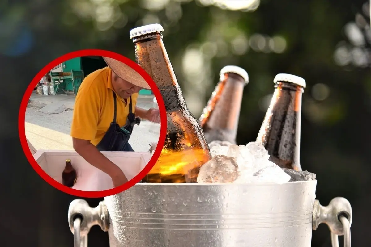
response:
M167 116L164 147L156 164L142 180L147 183L196 183L200 167L211 159L197 119L188 110L162 41L160 24L130 31L137 63L161 92Z

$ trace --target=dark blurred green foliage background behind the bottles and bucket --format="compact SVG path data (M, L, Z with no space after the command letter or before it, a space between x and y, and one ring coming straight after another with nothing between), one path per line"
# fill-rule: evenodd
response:
M134 60L130 29L161 23L175 74L196 117L223 66L241 66L249 73L239 144L255 140L277 73L306 80L302 167L317 174L316 195L321 204L336 196L351 202L352 244L371 246L365 236L371 230L369 4L366 0L1 1L0 76L7 85L1 95L3 102L18 102L1 107L9 116L3 123L3 145L20 148L15 132L17 109L27 85L47 63L79 49L111 50ZM67 208L74 197L42 181L26 167L24 157L12 160L21 161L19 166L24 168L17 175L9 164L3 168L4 175L13 174L2 174L1 180L3 188L12 186L4 193L13 205L0 206L2 221L14 223L0 224L3 233L28 246L72 246ZM89 200L92 206L98 201ZM16 213L21 210L22 216ZM108 246L106 233L99 228L92 232L89 246ZM10 240L3 241L10 246ZM331 246L326 226L313 232L312 246Z

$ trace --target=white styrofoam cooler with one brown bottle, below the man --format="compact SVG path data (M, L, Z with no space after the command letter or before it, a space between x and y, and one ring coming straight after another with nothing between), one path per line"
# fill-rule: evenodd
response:
M128 180L137 176L151 159L149 152L102 151L101 153L120 167ZM89 164L75 151L37 150L33 158L50 177L59 183L62 183L62 172L66 166L66 159L70 159L77 173L76 184L72 187L76 190L102 191L114 187L108 174Z

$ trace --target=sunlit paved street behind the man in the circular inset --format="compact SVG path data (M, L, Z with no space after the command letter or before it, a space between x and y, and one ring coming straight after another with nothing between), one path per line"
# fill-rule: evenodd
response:
M37 98L39 102L30 102L30 107L27 108L25 116L26 137L37 150L73 150L72 138L69 133L73 114L73 110L70 108L73 108L71 106L74 102L71 102L71 100L74 100L74 98L69 97L71 100L66 102L66 96L52 97L62 99L67 110L56 114L46 114L40 111L42 110L40 107L58 102L58 100L50 101L50 96L43 96L43 101ZM143 103L140 99L138 99L138 106L145 109L152 107L151 104ZM159 130L159 126L159 124L148 121L142 121L139 126L135 126L129 141L133 149L135 151L148 151L149 143L158 141L159 133L156 130ZM151 130L155 130L155 133Z

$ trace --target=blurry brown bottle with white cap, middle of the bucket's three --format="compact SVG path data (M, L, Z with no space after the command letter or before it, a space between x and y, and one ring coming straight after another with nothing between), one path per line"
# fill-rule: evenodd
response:
M200 117L207 143L228 141L236 144L244 86L249 83L247 72L237 66L220 70L220 79Z

